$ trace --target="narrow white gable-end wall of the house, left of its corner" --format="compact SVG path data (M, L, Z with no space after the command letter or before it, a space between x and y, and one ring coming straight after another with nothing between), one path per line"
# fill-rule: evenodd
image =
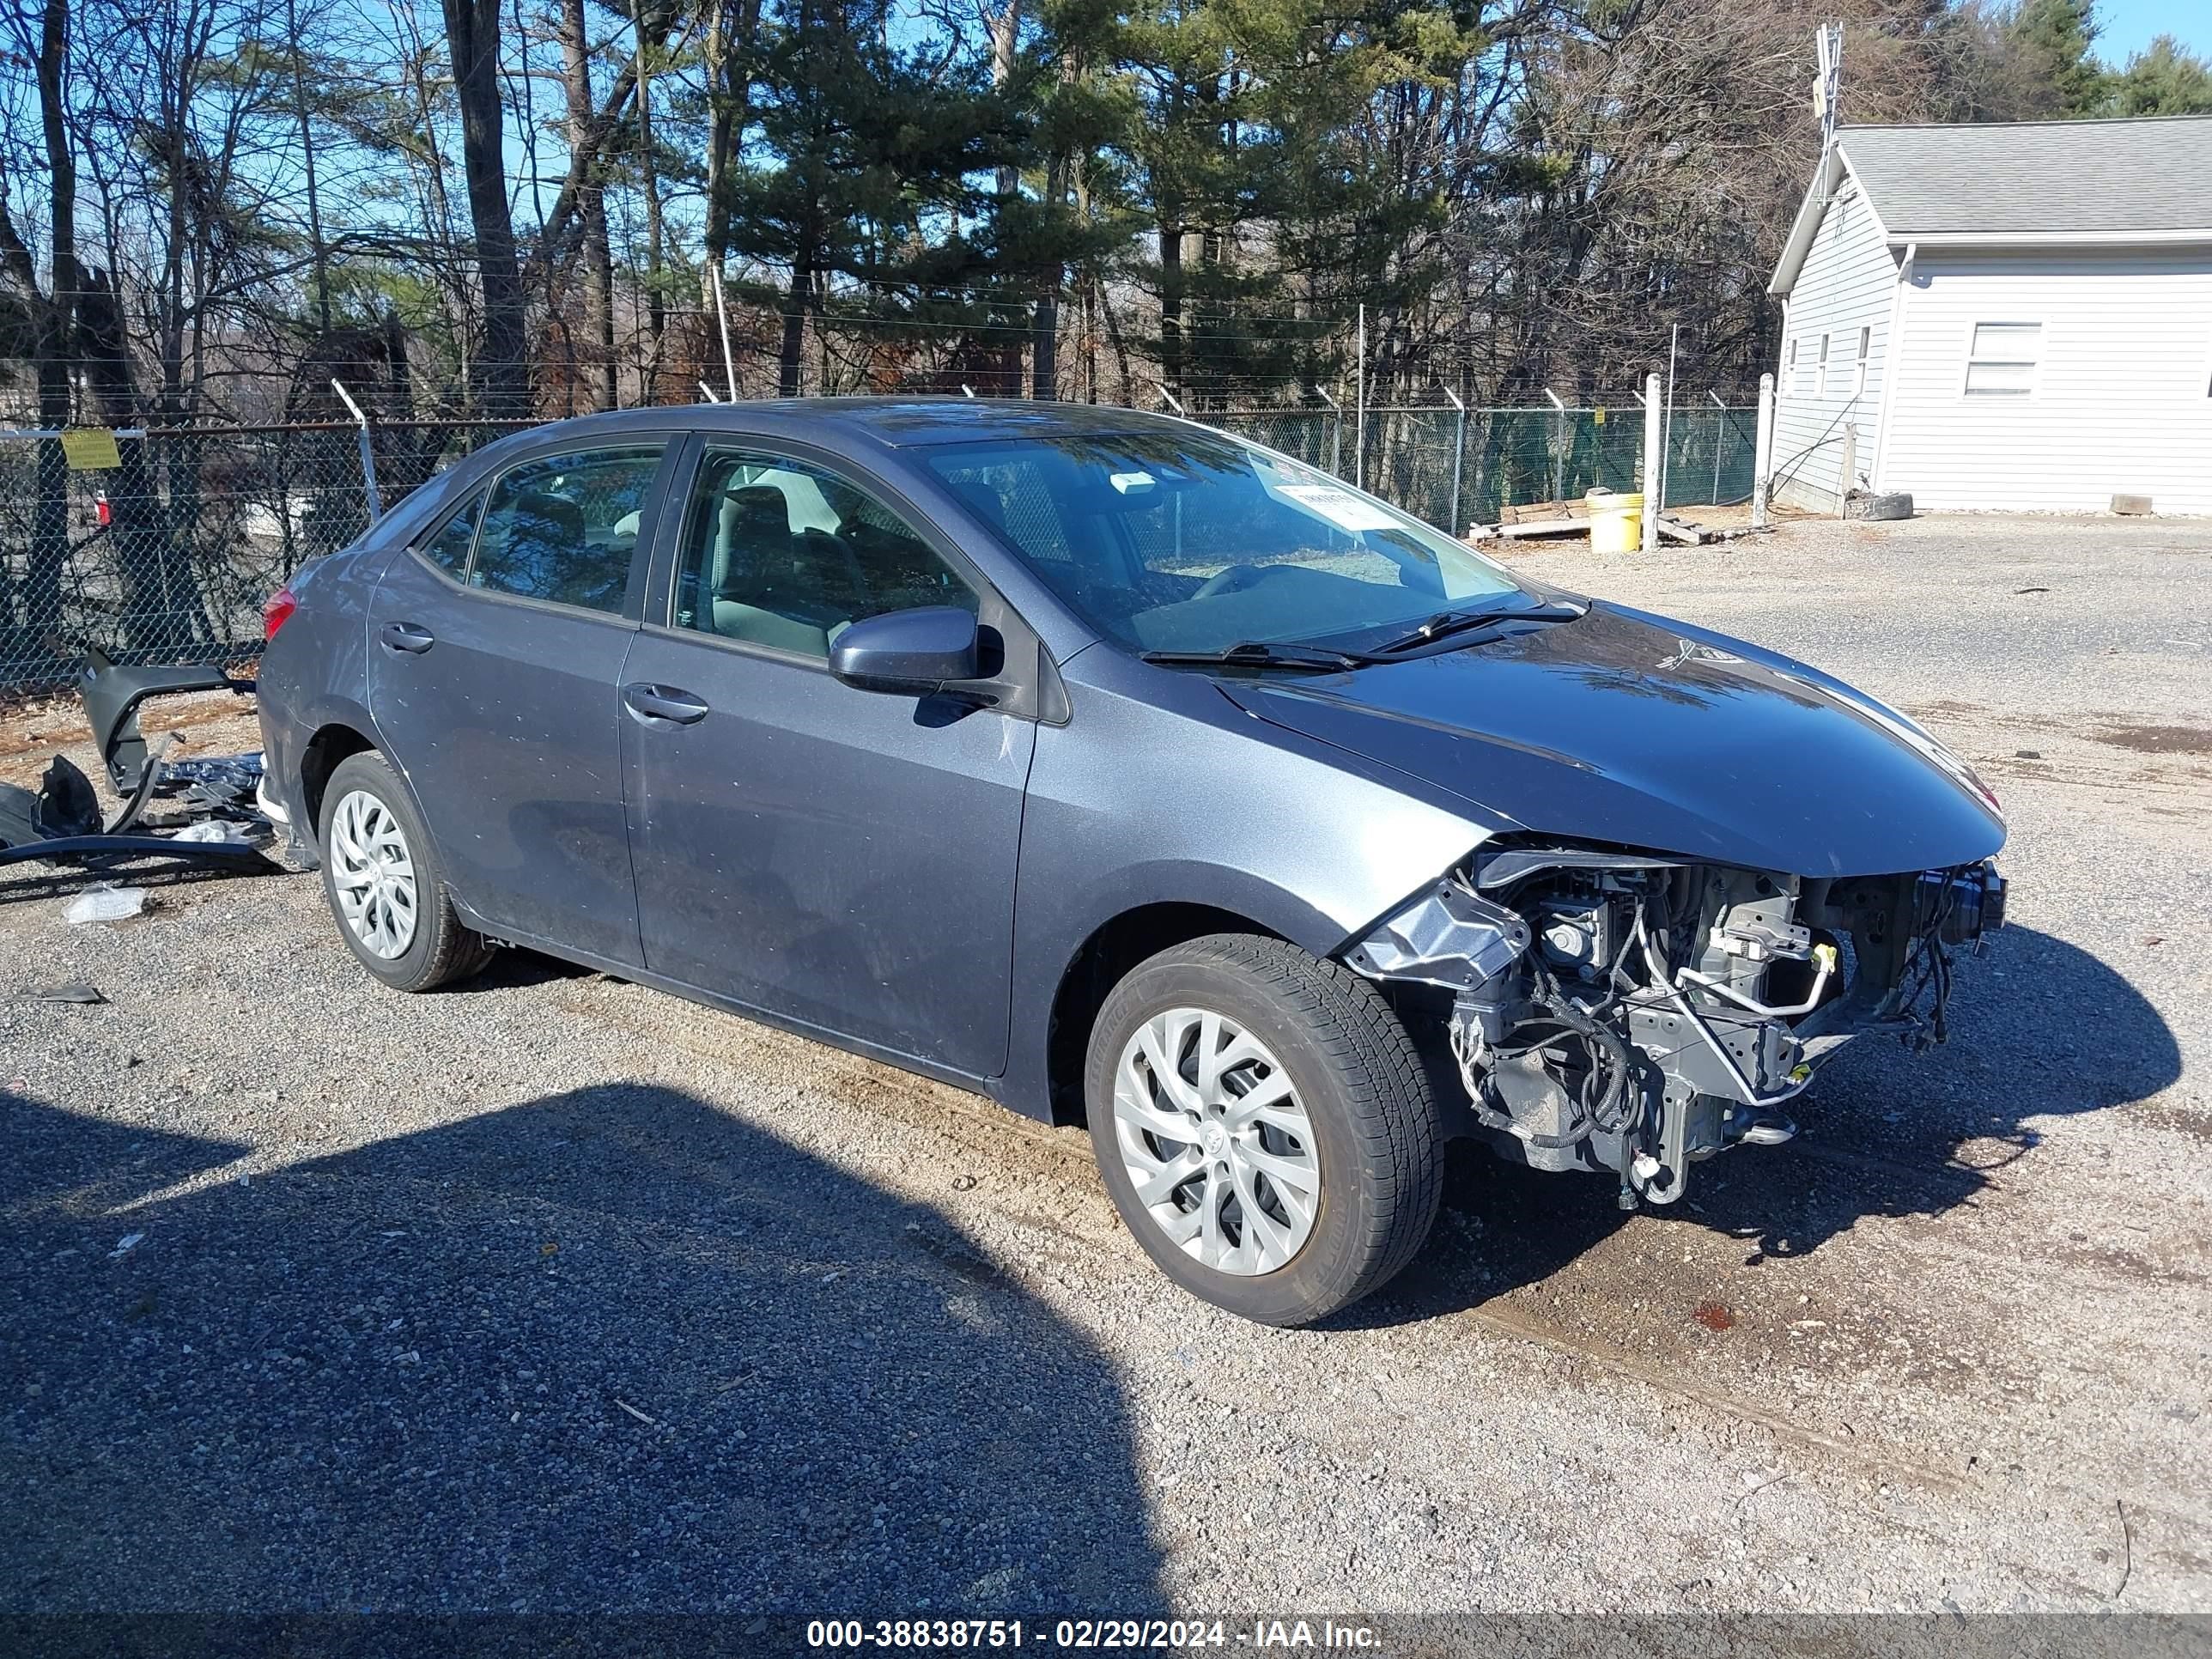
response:
M1840 489L1874 476L1874 416L1896 281L1898 263L1874 212L1845 181L1790 290L1790 338L1774 407L1776 500L1834 509ZM1838 476L1845 429L1856 434L1856 480Z

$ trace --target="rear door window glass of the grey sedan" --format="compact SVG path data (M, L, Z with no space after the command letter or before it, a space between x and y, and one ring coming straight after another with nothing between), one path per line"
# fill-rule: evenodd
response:
M664 445L540 456L491 487L469 584L520 599L622 611L637 522Z

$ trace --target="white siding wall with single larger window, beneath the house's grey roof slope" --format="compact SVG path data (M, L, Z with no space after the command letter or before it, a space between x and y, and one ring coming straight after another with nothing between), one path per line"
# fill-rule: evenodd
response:
M1933 511L2101 513L2141 493L2212 513L2208 338L2212 250L1922 248L1880 487Z

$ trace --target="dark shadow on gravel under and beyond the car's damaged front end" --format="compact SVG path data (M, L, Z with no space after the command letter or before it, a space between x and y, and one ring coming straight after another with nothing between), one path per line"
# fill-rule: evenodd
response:
M2031 1117L2126 1106L2181 1077L2159 1011L2064 940L2008 927L1958 969L1944 1046L1860 1037L1794 1104L1796 1141L1699 1164L1683 1203L1646 1214L1741 1237L1750 1265L1803 1256L1863 1217L1971 1203L2035 1150ZM1345 1321L1433 1318L1540 1283L1621 1225L1615 1186L1453 1146L1429 1248Z

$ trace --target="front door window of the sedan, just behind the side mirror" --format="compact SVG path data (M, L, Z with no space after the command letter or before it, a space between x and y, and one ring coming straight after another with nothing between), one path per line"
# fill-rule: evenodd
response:
M869 491L763 451L710 449L684 513L677 626L827 659L863 617L975 611L975 591Z

